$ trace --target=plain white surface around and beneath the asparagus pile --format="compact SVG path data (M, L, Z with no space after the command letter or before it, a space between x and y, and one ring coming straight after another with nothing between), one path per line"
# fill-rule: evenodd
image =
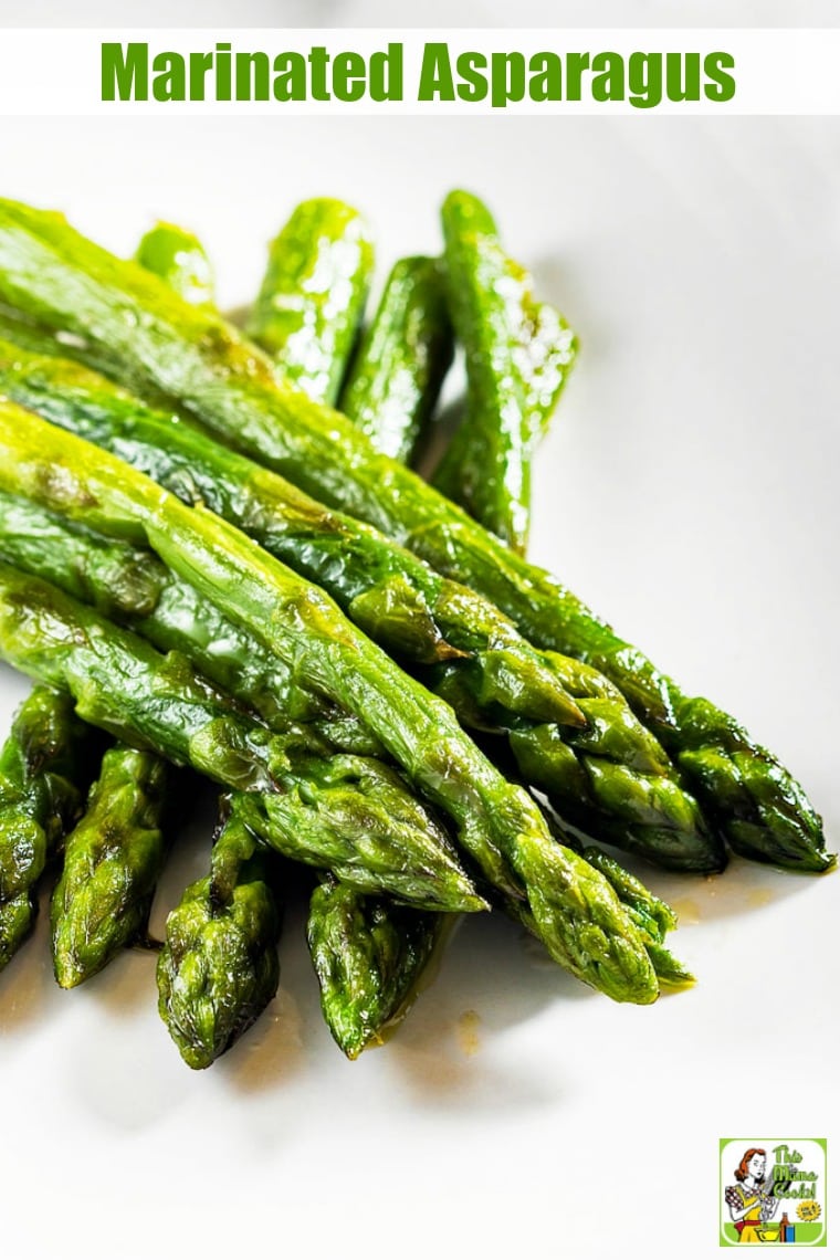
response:
M662 23L671 8L637 6ZM5 194L123 253L155 217L183 220L225 304L248 300L297 199L368 210L382 275L438 248L447 189L485 195L582 341L538 464L534 559L748 723L835 848L839 159L837 123L805 118L0 134ZM10 713L25 684L0 685ZM175 859L157 924L201 861ZM840 885L744 863L646 877L683 911L691 993L617 1007L471 921L397 1038L355 1065L321 1027L297 914L278 1000L205 1074L157 1019L147 955L63 994L42 924L0 976L3 1254L718 1255L718 1138L836 1140Z

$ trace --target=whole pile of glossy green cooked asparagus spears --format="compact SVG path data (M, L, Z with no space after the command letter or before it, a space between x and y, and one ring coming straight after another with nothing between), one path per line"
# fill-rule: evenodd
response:
M183 229L126 262L0 202L0 655L38 684L0 756L0 968L48 868L62 987L144 940L210 779L208 872L157 959L193 1067L277 989L290 863L354 1058L491 907L616 1000L690 983L673 912L602 844L835 861L771 753L524 558L577 341L477 198L442 219L442 257L400 260L365 324L364 219L304 203L243 333ZM456 344L465 417L429 484Z

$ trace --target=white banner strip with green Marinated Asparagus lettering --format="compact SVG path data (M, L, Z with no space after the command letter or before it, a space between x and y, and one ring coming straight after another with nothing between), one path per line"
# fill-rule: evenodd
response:
M840 30L0 30L0 115L834 115Z

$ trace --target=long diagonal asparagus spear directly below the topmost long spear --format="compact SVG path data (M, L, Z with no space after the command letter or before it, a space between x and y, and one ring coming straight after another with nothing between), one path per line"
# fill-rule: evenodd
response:
M126 459L184 501L203 503L244 529L277 559L324 586L394 655L463 660L463 685L474 704L486 698L536 721L583 723L564 685L563 663L530 649L482 598L276 474L60 358L0 343L0 391Z

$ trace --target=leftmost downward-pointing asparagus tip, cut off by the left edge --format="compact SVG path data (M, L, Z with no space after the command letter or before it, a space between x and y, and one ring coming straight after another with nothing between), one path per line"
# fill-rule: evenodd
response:
M35 687L0 752L0 970L31 931L35 887L79 813L91 753L68 697Z

